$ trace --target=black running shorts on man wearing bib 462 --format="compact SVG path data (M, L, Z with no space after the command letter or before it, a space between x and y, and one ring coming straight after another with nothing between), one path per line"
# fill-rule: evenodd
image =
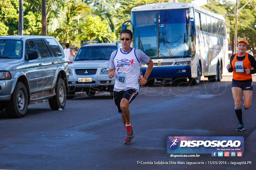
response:
M120 103L122 98L125 98L129 101L129 104L135 99L135 97L138 95L138 91L135 89L129 89L129 90L122 90L122 91L114 91L114 101L116 108L119 113L122 113L122 110L120 108Z

